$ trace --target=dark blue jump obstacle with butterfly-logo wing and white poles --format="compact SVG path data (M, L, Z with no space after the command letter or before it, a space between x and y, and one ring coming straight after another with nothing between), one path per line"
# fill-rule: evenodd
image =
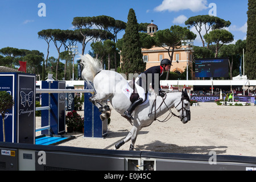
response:
M107 127L106 122L102 122L99 117L101 113L98 109L94 111L95 106L88 100L94 92L93 89L65 89L65 81L42 81L42 89L36 89L35 75L27 73L0 73L0 85L0 90L10 93L15 101L13 108L5 113L6 142L35 144L35 135L38 131L42 134L64 134L65 93L88 93L85 97L84 113L86 125L88 122L93 124L90 124L89 131L85 131L85 137L104 136L102 128L97 129L98 126L94 126L95 123L100 123ZM42 106L36 107L35 97L39 93L42 94ZM87 107L88 105L90 106ZM42 115L42 127L35 128L35 111L39 110ZM0 125L0 142L3 141L2 127L3 125ZM100 134L94 134L97 132Z

